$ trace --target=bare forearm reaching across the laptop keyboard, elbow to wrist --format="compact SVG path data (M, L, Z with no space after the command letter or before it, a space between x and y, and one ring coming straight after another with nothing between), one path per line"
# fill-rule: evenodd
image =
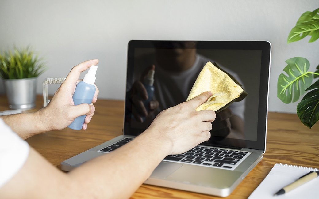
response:
M170 147L161 142L163 139L154 137L141 134L114 152L74 169L70 178L80 184L79 191L81 186L90 190L84 198L129 198L169 154Z

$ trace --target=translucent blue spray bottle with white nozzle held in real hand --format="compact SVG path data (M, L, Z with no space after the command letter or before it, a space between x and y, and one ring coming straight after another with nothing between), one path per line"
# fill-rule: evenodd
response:
M97 66L92 65L88 73L85 74L83 81L78 83L72 97L74 105L78 105L82 103L91 104L94 93L95 93L94 82L96 79L95 73L97 68L98 68ZM82 115L75 118L75 120L68 127L74 130L82 129L85 116L86 115Z

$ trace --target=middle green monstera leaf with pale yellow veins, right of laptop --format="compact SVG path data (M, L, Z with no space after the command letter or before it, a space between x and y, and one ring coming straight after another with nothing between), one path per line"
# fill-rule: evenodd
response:
M309 61L303 57L293 57L286 60L288 64L284 71L288 74L280 74L277 83L277 97L284 103L296 102L305 89L312 83L312 72L309 69Z

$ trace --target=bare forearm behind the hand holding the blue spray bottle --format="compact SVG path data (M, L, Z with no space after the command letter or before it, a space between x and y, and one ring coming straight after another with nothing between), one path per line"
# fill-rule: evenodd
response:
M10 128L22 139L46 132L48 129L43 126L39 111L33 113L20 113L0 116Z

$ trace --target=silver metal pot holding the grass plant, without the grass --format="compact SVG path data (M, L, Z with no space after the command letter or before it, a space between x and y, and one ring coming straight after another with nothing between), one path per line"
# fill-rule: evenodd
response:
M28 110L35 107L38 77L2 79L10 109Z

